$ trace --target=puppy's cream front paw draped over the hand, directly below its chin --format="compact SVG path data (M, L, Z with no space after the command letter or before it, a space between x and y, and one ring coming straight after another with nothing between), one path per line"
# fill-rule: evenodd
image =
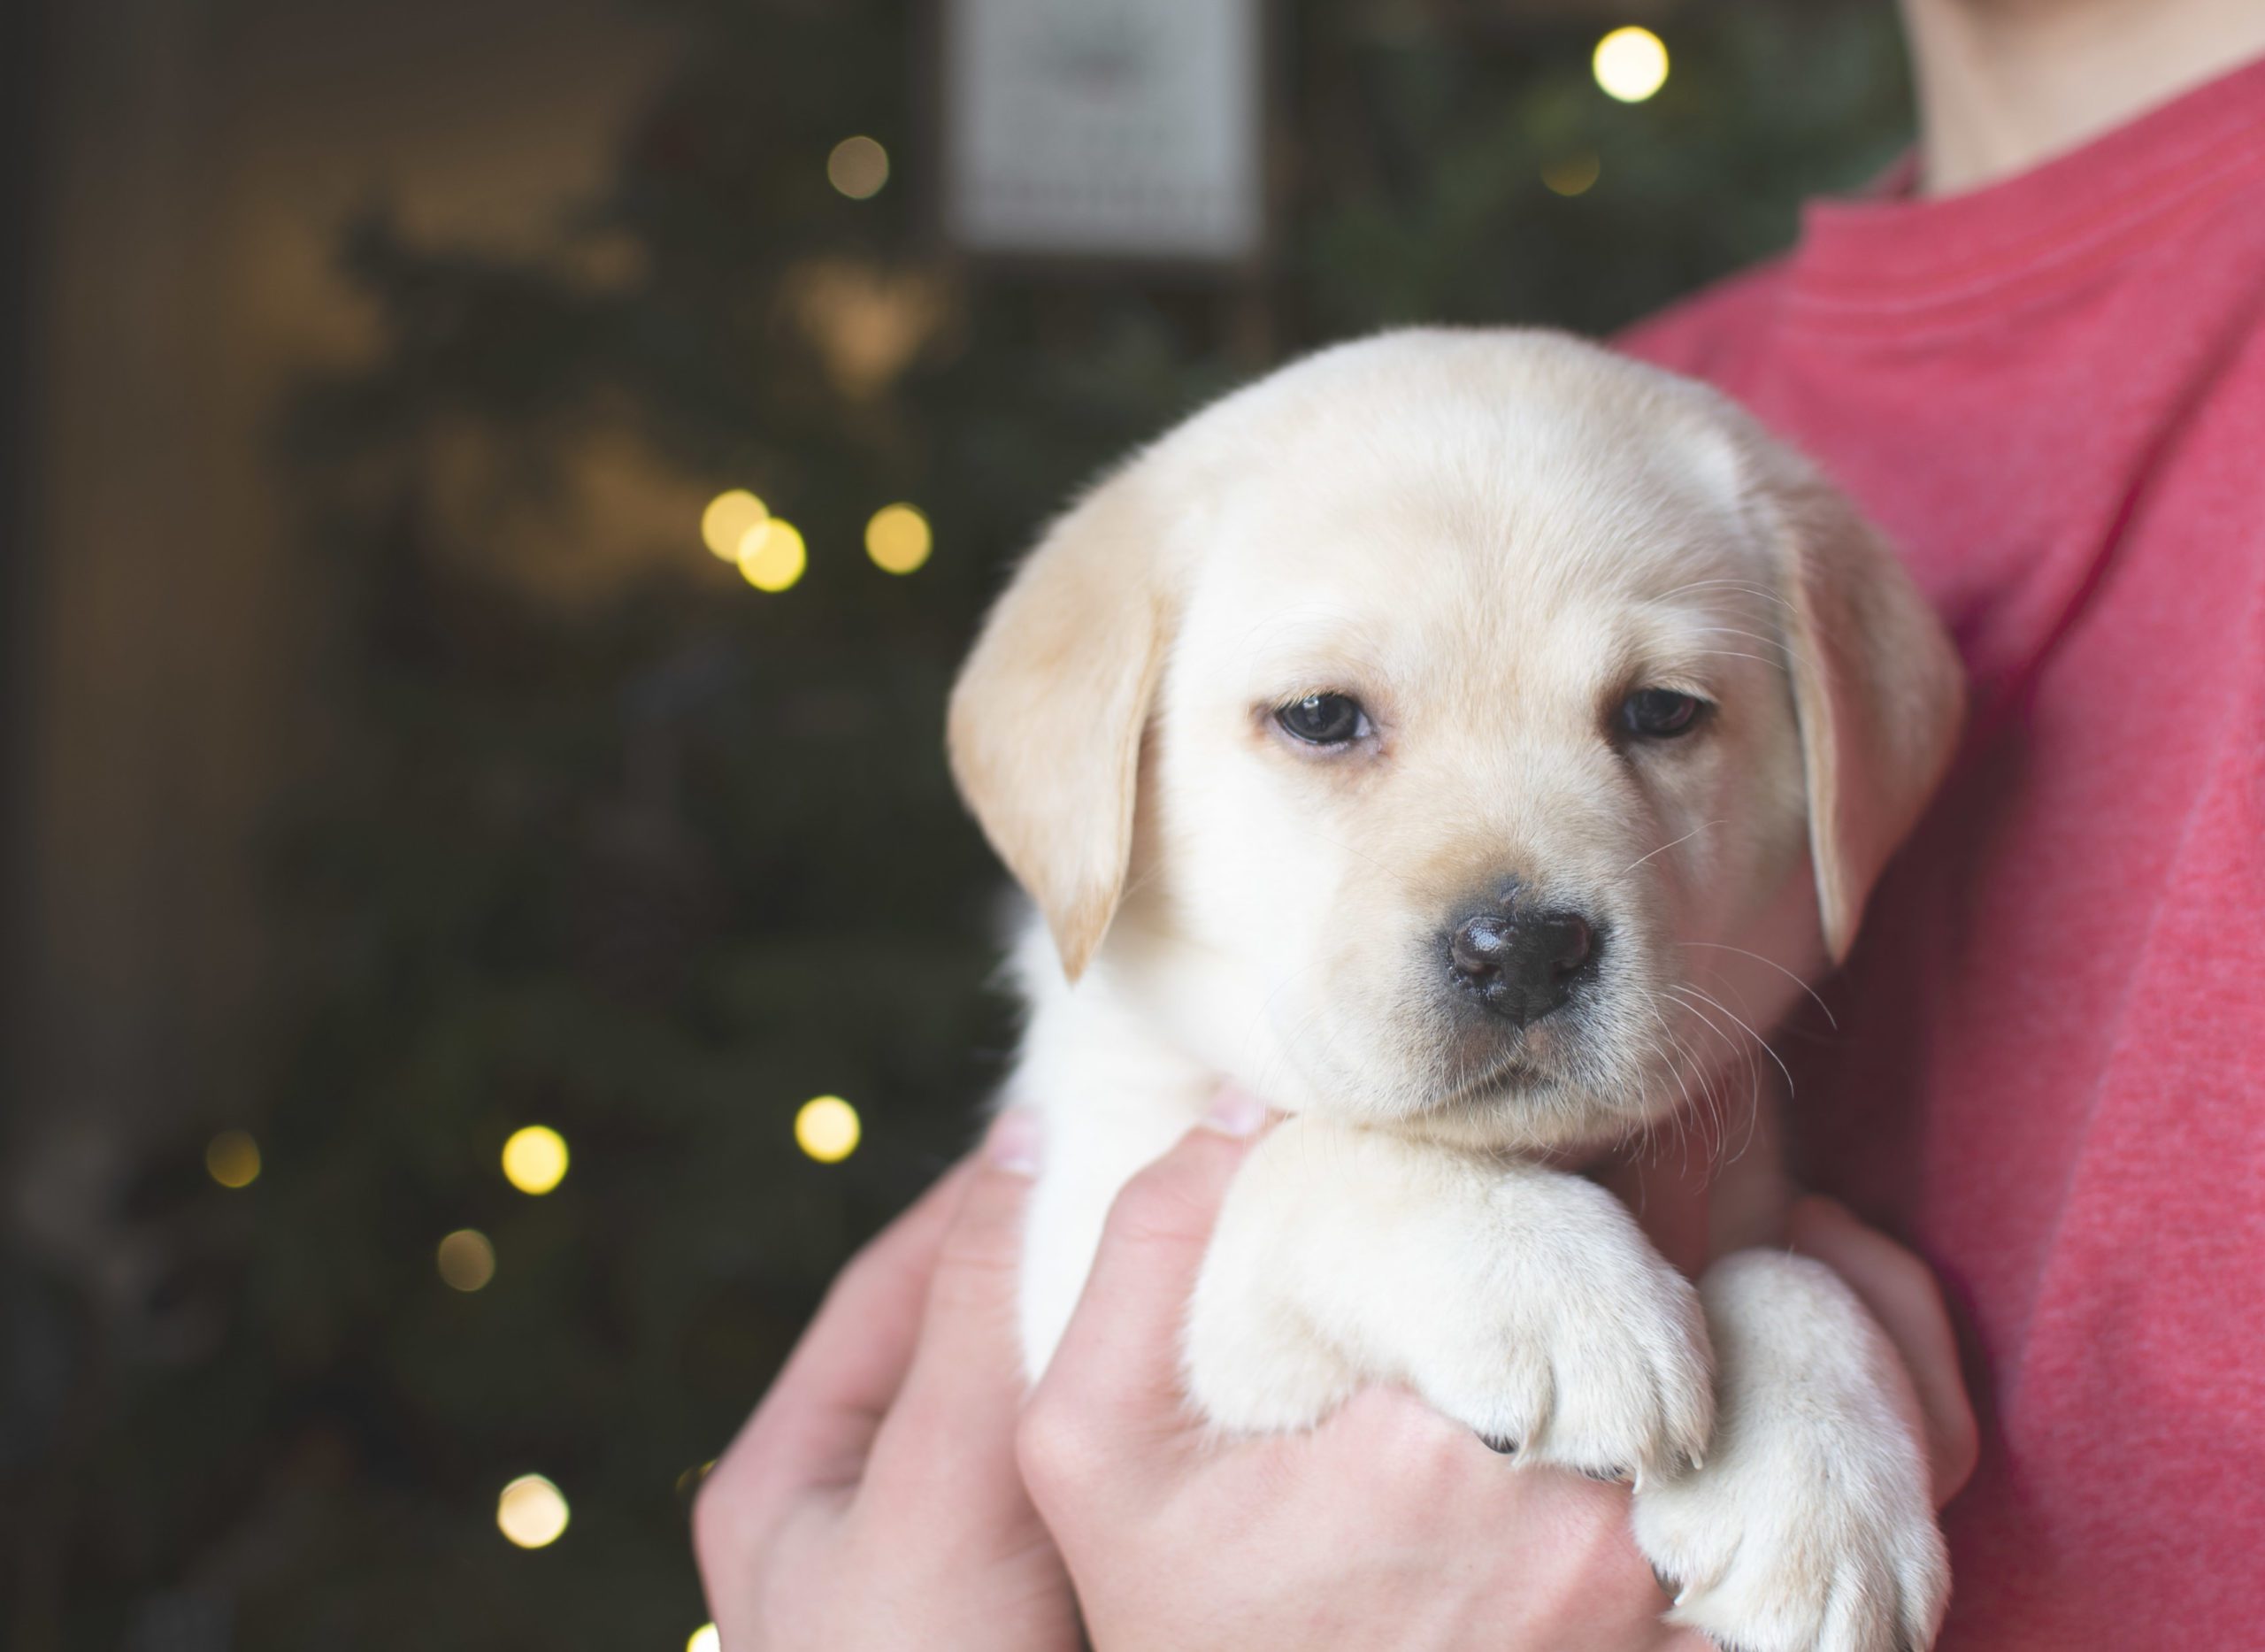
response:
M1640 1475L1706 1455L1699 1296L1617 1199L1320 1131L1275 1131L1214 1231L1185 1348L1214 1423L1305 1428L1402 1382L1520 1462Z

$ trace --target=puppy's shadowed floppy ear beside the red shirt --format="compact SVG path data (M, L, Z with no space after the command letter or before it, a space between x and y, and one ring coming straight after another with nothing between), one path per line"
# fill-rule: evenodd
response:
M1778 546L1817 909L1832 963L1957 750L1966 675L1928 598L1855 505L1758 437L1749 476Z

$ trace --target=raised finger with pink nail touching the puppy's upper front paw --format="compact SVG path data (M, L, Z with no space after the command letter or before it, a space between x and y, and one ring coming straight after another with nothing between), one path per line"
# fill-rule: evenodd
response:
M1062 1412L1110 1428L1185 1425L1180 1326L1219 1203L1264 1124L1259 1101L1225 1090L1205 1126L1126 1183L1040 1403L1060 1398Z

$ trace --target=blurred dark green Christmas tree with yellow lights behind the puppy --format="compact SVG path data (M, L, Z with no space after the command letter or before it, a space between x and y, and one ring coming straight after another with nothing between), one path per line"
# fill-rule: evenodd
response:
M279 882L301 1038L265 1174L211 1194L226 1330L127 1380L59 1516L72 1643L170 1589L229 1604L168 1645L682 1645L680 1482L1001 1067L1001 879L940 705L1033 523L1273 356L1613 329L1785 245L1905 122L1884 7L1669 9L1640 104L1599 93L1622 18L1588 7L1277 7L1264 272L1001 274L917 211L920 5L673 9L682 68L553 256L347 238L383 351L288 446L337 616ZM895 165L863 199L827 170L852 134ZM729 487L802 530L790 589L702 551ZM863 551L892 501L933 523L911 573ZM863 1117L840 1163L795 1144L822 1092ZM525 1124L571 1149L541 1197L498 1169ZM435 1267L458 1228L478 1289ZM523 1552L496 1493L530 1471L571 1527Z

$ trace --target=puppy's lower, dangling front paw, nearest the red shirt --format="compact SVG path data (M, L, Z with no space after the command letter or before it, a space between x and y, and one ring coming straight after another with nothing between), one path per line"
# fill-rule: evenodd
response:
M1950 1561L1894 1353L1819 1262L1744 1253L1706 1278L1721 1419L1703 1468L1647 1482L1635 1541L1669 1623L1742 1652L1928 1647Z

